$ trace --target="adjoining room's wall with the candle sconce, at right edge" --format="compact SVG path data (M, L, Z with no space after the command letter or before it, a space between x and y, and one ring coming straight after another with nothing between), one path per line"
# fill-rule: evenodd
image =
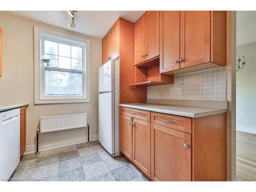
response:
M237 47L240 53L247 65L237 72L237 130L256 134L256 41Z

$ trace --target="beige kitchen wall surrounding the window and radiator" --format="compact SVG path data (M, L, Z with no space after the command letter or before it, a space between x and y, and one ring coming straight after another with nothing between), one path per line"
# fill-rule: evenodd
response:
M54 18L53 18L54 19ZM90 40L91 102L34 105L33 26L67 33ZM0 102L29 102L27 110L27 146L35 144L36 127L41 115L88 112L90 135L98 134L98 68L101 66L101 39L0 12L3 29L3 77L0 78ZM40 144L56 143L87 136L86 129L40 134ZM61 144L65 144L61 143ZM53 145L48 145L53 146Z

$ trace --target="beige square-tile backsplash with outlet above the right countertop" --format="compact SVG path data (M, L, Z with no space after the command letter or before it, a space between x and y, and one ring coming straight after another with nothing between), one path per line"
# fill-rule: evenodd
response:
M178 88L182 95L177 95ZM147 87L147 99L226 101L226 67L177 75L174 84Z

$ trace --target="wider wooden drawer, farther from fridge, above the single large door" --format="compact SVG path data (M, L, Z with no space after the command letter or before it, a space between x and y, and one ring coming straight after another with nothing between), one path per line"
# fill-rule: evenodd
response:
M151 122L185 133L192 133L192 120L188 117L151 112Z

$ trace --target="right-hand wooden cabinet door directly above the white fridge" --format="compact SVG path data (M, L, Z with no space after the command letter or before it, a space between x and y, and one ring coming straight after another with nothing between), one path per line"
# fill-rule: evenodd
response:
M119 57L119 20L111 31L111 59Z

